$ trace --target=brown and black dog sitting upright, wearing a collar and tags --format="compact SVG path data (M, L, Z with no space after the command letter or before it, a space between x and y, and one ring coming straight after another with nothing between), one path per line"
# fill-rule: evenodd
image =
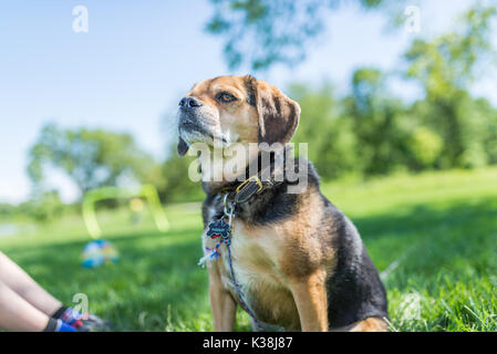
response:
M299 117L297 102L250 75L205 80L179 102L178 154L195 143L213 150L217 142L228 152L221 158L226 165L235 145L289 143ZM225 217L224 196L231 198L241 183L226 174L220 180L210 178L222 167L203 155L207 231ZM258 156L260 152L249 153L247 160L260 163ZM386 293L379 273L353 223L320 192L317 173L304 164L300 192L288 192L296 181L286 178L283 168L279 183L268 180L236 205L230 257L221 244L219 259L207 261L215 331L234 330L237 304L248 305L257 323L289 331L386 331ZM231 177L248 171L247 164L235 166ZM275 159L271 167L273 175L281 173ZM213 249L205 236L204 247Z

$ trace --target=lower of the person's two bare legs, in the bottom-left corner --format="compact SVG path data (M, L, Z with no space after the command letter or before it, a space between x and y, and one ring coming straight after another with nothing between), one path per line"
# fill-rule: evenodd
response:
M0 282L0 329L41 332L50 317Z

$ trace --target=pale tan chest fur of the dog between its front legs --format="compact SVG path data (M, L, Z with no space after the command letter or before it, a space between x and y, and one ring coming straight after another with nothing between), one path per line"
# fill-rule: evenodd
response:
M204 250L219 243L204 235ZM271 228L253 229L235 219L229 251L226 244L218 246L219 258L208 261L220 268L225 289L239 302L244 301L256 313L258 320L287 327L298 326L298 312L284 274L279 268L281 236ZM232 275L235 277L235 285Z

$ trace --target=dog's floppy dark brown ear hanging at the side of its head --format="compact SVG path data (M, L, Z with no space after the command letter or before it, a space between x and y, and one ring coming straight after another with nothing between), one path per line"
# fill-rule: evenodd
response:
M255 77L245 76L248 103L256 106L259 114L259 143L287 144L297 131L300 106L277 87Z

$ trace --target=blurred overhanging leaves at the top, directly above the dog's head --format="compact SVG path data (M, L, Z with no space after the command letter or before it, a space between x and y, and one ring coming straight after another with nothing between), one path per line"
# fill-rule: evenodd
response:
M294 64L306 58L306 44L324 28L327 9L340 0L210 0L215 12L207 31L224 37L231 69L249 63L253 70L276 63ZM379 7L384 0L358 0Z

